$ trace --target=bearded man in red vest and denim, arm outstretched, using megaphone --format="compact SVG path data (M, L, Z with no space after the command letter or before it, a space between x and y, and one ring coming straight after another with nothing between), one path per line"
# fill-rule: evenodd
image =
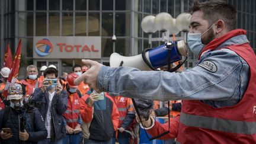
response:
M82 60L89 69L75 83L85 81L111 95L184 100L175 119L179 143L255 143L256 56L247 32L235 29L236 9L225 1L194 1L191 14L187 42L199 56L194 68L181 73L140 71ZM161 133L156 127L168 129L151 124L151 135Z

